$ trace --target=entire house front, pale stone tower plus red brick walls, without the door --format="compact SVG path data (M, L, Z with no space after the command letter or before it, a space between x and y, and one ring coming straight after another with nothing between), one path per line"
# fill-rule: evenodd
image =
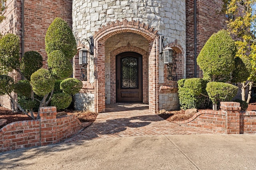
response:
M116 56L127 51L142 56L142 102L153 112L178 109L177 84L167 79L159 37L169 38L164 47L174 50L177 79L194 77L194 0L7 0L6 20L0 23L2 34L22 37L22 2L25 33L21 48L38 51L44 68L44 37L54 18L61 17L72 27L78 50L83 47L82 39L93 36L94 55L88 59L83 88L75 95L76 109L103 112L106 104L117 102ZM196 1L196 55L212 33L224 28L225 17L217 14L221 7L222 0ZM80 79L78 54L72 64L72 76ZM202 76L199 68L196 76ZM16 81L21 79L16 77ZM11 105L5 96L0 104Z

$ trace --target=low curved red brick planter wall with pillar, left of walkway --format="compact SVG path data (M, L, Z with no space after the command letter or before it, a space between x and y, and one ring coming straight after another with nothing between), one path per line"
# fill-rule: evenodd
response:
M56 107L41 107L41 119L4 126L0 129L0 152L58 143L84 128L76 116L56 114Z

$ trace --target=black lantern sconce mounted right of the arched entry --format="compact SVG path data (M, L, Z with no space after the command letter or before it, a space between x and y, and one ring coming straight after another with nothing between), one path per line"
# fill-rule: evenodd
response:
M161 55L161 60L164 60L164 64L166 64L168 69L167 80L177 80L177 72L176 72L176 61L175 61L175 51L165 45L169 43L169 37L164 37L163 35L159 36L159 54ZM166 46L164 48L164 46Z

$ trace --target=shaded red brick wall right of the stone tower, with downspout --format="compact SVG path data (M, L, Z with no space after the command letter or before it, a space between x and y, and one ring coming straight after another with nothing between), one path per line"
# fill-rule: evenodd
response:
M208 38L225 29L225 16L218 14L222 0L196 0L197 56ZM202 71L197 68L197 77ZM186 0L186 78L194 77L194 0Z

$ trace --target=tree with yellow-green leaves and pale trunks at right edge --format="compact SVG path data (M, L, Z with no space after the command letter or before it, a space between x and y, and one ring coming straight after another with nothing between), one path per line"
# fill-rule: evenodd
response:
M255 70L255 35L256 35L256 9L255 0L223 0L225 6L223 10L228 16L232 16L227 20L228 31L232 34L232 37L235 39L237 46L236 57L240 57L242 61L244 58L247 58L250 61L250 65L246 66L250 75L241 76L238 74L238 71L233 73L234 77L243 77L239 79L234 79L233 81L238 83L242 89L242 100L249 103L251 99L251 91L253 82L256 81L256 70ZM244 63L246 65L247 61ZM250 67L251 68L248 68ZM246 82L246 80L248 80ZM246 100L246 89L248 88L248 98Z

